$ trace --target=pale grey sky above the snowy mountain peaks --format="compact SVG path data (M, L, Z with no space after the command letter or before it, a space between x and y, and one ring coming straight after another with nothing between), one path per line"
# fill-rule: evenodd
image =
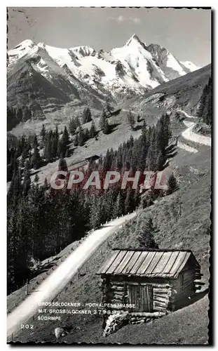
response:
M95 50L121 47L132 34L160 44L178 60L199 67L211 62L211 11L186 8L8 8L8 48L36 44Z

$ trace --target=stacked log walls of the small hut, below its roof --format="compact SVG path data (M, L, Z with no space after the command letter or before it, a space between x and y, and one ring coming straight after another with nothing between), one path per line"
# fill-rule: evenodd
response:
M200 270L196 268L184 270L177 279L144 279L127 280L125 277L103 279L102 293L107 303L135 303L132 312L166 312L173 309L183 300L192 296L195 291L195 279L199 278ZM113 308L115 310L116 308ZM118 307L118 310L121 308ZM124 308L125 310L125 308ZM130 310L129 310L130 312Z

